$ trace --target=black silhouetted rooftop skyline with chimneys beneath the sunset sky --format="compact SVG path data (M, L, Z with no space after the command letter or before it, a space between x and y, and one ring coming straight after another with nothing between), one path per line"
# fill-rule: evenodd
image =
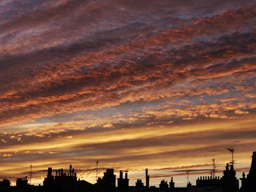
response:
M55 175L53 175L55 172ZM176 188L173 177L168 183L162 180L159 187L150 186L148 169L145 170L146 185L142 180L137 180L135 186L129 186L128 172L119 171L116 186L116 174L114 169L107 169L103 177L97 179L97 183L91 184L86 180L77 177L72 165L67 171L48 168L43 185L29 185L27 177L17 178L16 185L11 186L10 180L0 181L0 192L256 192L256 151L252 154L252 164L249 174L243 173L241 188L239 189L238 179L233 161L226 164L222 177L200 176L196 185L188 183L185 188Z

